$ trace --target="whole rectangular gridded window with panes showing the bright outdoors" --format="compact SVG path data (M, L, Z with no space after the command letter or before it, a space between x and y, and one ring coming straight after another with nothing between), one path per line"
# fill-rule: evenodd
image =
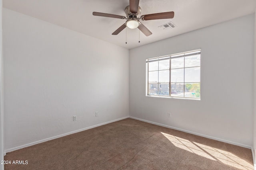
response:
M147 59L147 96L200 99L201 49Z

